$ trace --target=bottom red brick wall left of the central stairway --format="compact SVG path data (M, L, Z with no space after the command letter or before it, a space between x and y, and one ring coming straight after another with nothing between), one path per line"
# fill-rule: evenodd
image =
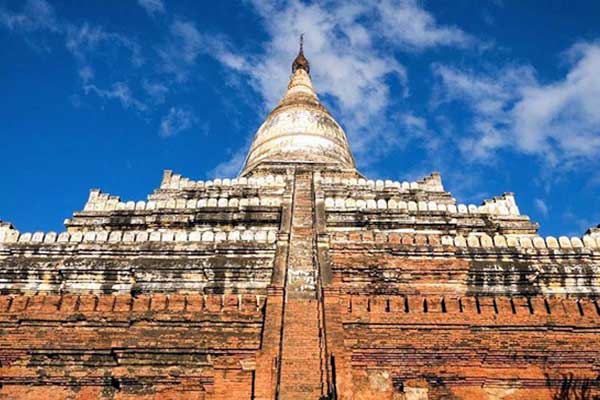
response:
M0 398L249 399L264 301L0 296Z

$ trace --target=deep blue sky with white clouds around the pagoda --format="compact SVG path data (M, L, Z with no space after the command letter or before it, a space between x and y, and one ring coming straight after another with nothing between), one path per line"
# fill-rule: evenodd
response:
M287 85L315 87L373 179L515 192L544 235L600 223L597 1L0 0L0 219L62 230L90 188L232 177Z

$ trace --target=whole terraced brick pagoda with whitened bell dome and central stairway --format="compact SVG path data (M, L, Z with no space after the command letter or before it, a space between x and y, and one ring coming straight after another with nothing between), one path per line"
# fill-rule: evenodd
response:
M0 399L600 398L600 232L366 180L302 52L236 179L0 223Z

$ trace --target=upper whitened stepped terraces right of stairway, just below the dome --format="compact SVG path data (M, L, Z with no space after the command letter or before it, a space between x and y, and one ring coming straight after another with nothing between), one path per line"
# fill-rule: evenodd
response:
M316 177L331 229L379 228L429 234L536 235L538 225L521 215L514 194L457 204L439 174L416 182Z

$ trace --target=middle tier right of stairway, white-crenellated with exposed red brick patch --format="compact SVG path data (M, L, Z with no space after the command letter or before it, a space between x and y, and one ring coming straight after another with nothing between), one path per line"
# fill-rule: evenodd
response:
M562 236L330 234L332 280L350 293L600 295L600 242Z

